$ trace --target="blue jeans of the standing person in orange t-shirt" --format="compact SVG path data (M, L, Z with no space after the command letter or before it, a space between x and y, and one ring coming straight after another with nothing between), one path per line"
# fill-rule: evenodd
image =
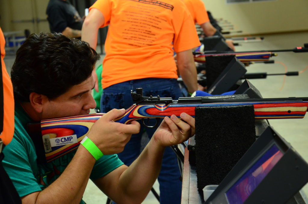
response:
M160 97L172 97L173 100L183 96L176 79L146 78L131 80L104 89L100 101L101 112L108 112L113 108L129 108L133 104L131 90L136 91L136 88L143 88L143 96L159 95ZM140 133L132 135L124 151L118 154L125 165L130 165L139 156L143 130L147 131L149 137L152 137L156 130L155 128L145 128L142 123L140 124ZM165 149L158 182L160 184L160 203L179 204L182 182L180 181L176 154L171 148Z

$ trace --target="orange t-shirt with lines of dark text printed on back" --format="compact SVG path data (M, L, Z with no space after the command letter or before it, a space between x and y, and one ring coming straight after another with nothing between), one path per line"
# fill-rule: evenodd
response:
M177 78L173 52L200 45L192 18L180 0L98 0L109 25L102 87L143 78ZM174 50L173 50L173 49Z

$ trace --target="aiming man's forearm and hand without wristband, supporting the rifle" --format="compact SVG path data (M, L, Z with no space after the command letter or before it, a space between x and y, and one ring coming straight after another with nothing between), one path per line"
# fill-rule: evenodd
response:
M127 196L119 203L141 203L158 177L164 149L193 136L193 117L181 113L180 119L175 115L164 117L140 156L119 176L119 189Z

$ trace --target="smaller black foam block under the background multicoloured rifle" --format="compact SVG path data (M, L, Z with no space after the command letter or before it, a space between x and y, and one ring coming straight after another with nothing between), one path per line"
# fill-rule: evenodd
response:
M205 57L205 75L208 88L212 86L214 81L222 73L222 71L228 66L235 55L224 56L208 56ZM234 89L235 90L235 89Z

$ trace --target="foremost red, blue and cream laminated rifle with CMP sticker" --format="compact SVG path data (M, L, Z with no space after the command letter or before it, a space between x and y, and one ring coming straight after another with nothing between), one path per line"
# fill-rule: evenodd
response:
M236 97L232 95L180 97L178 100L172 100L172 98L160 98L160 96L145 97L142 94L142 88L137 89L136 92L131 91L131 94L135 104L129 107L123 116L114 121L129 124L133 120L143 120L143 124L150 128L157 127L160 118L172 114L180 117L180 113L185 112L194 117L196 107L253 105L255 119L303 118L308 107L308 97L235 99ZM28 124L28 132L33 141L40 141L39 145L42 149L44 147L46 161L49 162L76 149L93 123L104 114L96 113L42 120L38 124ZM149 118L155 118L156 125L146 124L145 119ZM39 134L35 134L38 131ZM63 140L64 144L60 140Z

